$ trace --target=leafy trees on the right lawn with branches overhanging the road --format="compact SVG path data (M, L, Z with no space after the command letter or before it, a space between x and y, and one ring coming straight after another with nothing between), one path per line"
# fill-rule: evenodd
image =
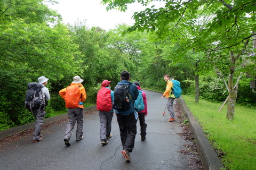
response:
M127 9L127 4L138 2L147 6L153 0L102 0L107 10ZM154 1L157 2L157 1ZM215 68L216 72L228 75L227 118L233 120L241 73L255 78L255 53L252 40L256 36L256 1L197 1L161 0L161 7L151 6L135 12L135 23L125 32L154 32L156 40L171 40L173 48L169 58L177 58L188 53L203 54L194 70L196 102L199 98L199 74L205 68ZM255 45L255 40L254 40ZM178 50L177 50L178 49ZM175 55L176 54L176 55ZM239 75L240 74L240 75ZM234 83L236 81L236 83Z

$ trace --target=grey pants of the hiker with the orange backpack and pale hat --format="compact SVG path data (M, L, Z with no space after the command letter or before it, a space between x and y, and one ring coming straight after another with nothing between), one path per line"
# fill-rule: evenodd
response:
M65 138L70 139L74 126L77 123L76 139L81 139L83 136L83 108L68 108L68 124L66 128Z

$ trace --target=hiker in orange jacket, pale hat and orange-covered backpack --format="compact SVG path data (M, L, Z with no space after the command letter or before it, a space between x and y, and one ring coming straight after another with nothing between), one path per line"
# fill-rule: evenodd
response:
M83 123L84 123L83 102L86 99L86 91L83 85L81 84L84 80L81 79L79 76L75 76L73 80L74 81L71 82L70 86L59 91L60 96L66 101L66 107L68 108L69 122L67 124L66 134L64 138L65 145L67 146L70 146L70 138L76 122L77 122L76 141L80 141L84 139L83 137ZM78 91L74 92L74 94L66 93L69 87L77 88L77 86L78 86Z

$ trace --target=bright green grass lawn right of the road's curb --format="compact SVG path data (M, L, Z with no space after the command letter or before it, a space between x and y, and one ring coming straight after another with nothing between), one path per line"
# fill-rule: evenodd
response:
M226 169L256 169L256 108L235 106L234 120L226 118L227 105L182 95L191 113L202 126L213 148L225 153Z

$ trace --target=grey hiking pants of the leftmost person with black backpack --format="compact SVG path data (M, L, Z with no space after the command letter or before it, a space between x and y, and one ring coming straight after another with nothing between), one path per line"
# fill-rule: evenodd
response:
M40 134L42 130L45 111L44 109L40 110L38 108L38 109L32 110L32 113L34 116L36 116L36 125L35 125L34 134L33 134L33 140L38 140L40 138Z

